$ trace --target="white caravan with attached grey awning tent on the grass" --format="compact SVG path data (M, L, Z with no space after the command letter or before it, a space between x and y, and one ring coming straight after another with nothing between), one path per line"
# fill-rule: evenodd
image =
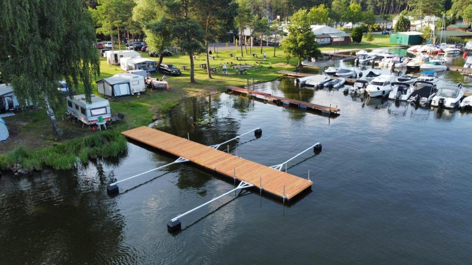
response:
M113 75L109 78L103 78L97 83L98 92L110 98L126 97L146 90L144 77L122 73Z

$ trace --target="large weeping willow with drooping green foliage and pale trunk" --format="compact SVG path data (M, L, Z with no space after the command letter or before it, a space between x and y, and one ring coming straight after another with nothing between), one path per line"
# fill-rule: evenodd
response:
M54 110L63 104L58 81L84 84L100 74L93 20L84 0L1 0L0 72L22 107L44 104L54 132L62 136ZM69 96L72 96L70 94Z

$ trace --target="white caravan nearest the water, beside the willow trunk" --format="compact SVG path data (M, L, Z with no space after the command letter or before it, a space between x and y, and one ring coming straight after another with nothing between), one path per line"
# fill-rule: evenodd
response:
M110 103L107 99L92 95L92 103L87 103L85 95L75 95L73 99L67 98L67 110L84 124L95 124L100 119L111 119Z

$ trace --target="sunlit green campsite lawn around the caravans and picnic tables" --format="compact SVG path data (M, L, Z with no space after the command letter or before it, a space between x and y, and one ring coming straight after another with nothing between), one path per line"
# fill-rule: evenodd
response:
M367 48L379 48L395 46L395 44L389 43L388 39L382 35L375 35L375 40L371 43L360 43L352 45L342 45L339 47L325 46L321 47L322 51L340 49L367 49ZM123 45L124 46L124 45ZM98 50L98 49L97 49ZM110 108L112 116L118 113L123 113L125 119L120 122L113 123L113 126L108 128L109 130L122 132L130 128L135 128L142 125L150 124L153 120L158 119L172 107L176 106L186 97L200 96L207 93L217 93L224 91L224 88L228 85L233 86L244 86L249 79L250 82L254 79L254 82L267 82L277 79L280 74L278 70L294 70L294 65L297 63L296 58L290 59L290 64L286 65L287 58L283 52L277 48L276 56L274 57L273 47L263 47L262 53L260 53L259 47L253 47L252 52L258 55L258 58L253 57L250 53L249 47L246 50L243 47L244 57L240 62L235 57L230 57L229 53L234 53L234 56L241 55L241 50L227 50L225 48L218 49L218 58L215 60L210 59L210 65L216 66L219 69L220 64L225 62L233 63L247 63L249 65L258 64L262 66L261 70L249 69L247 75L237 75L236 69L228 68L229 75L222 75L221 73L212 74L213 79L208 78L206 70L200 68L201 63L206 63L204 53L200 54L201 58L194 60L195 64L195 79L197 83L190 83L190 72L189 68L182 71L180 76L168 76L169 90L157 90L146 91L140 96L132 96L127 98L110 99ZM263 61L263 53L266 53L267 60ZM149 57L147 53L139 51L143 57ZM215 51L213 51L213 55ZM158 58L153 58L157 60ZM171 63L177 67L189 66L190 60L188 55L173 54L169 57L164 57L164 63ZM271 66L269 68L268 66ZM121 73L119 66L108 66L108 62L105 58L100 58L100 76L96 76L95 80L101 78L107 78L111 75ZM162 78L159 73L152 74L152 77ZM93 93L98 95L96 85L93 85ZM83 93L83 86L79 86L77 94ZM102 95L101 95L102 96ZM40 149L51 144L57 144L63 141L69 141L73 139L82 139L84 136L94 134L88 126L82 124L73 124L70 121L63 120L62 115L66 111L66 105L56 110L56 117L59 121L61 129L64 131L64 137L58 139L52 131L51 121L46 115L44 109L37 108L33 110L27 110L16 113L15 116L5 117L4 120L7 122L7 126L10 130L10 139L7 141L0 142L0 155L7 154L8 152L15 149L18 145L23 145L25 150ZM115 150L110 149L110 152ZM78 157L81 160L85 159L85 153L88 153L88 149L78 150ZM100 155L97 153L97 155ZM50 157L54 159L54 157ZM64 167L72 163L72 157L62 157L54 159ZM34 162L29 161L28 158L25 160L26 163L30 163L33 167ZM58 165L58 167L61 167Z

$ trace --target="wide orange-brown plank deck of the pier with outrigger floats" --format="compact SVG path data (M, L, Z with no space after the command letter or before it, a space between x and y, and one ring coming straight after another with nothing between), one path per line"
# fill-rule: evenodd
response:
M121 132L121 134L135 141L168 152L174 156L184 157L197 165L203 166L209 170L214 170L230 178L233 178L234 168L236 168L236 178L238 180L244 180L245 182L254 184L256 187L259 187L260 178L262 177L263 191L280 198L283 197L285 185L285 197L287 200L292 199L298 193L311 187L313 183L292 174L278 171L268 166L263 166L253 161L236 157L200 143L189 141L146 126Z

